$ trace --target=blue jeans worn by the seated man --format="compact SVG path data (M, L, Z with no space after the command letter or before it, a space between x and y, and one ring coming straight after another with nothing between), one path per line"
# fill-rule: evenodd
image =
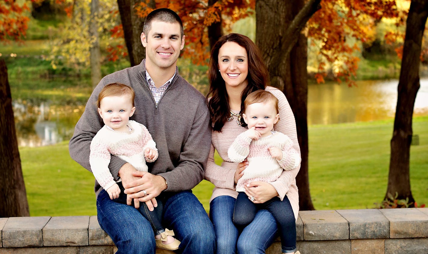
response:
M163 225L181 241L180 253L214 253L215 234L202 204L191 191L165 193ZM105 190L97 198L98 222L118 248L116 254L154 254L155 235L149 221L133 206L110 199Z

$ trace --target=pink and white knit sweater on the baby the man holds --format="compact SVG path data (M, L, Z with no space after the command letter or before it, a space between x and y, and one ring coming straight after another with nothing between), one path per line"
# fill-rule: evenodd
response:
M158 158L156 156L151 160L144 157L146 148L158 150L146 126L129 120L128 127L131 128L130 131L121 132L109 129L104 125L92 139L89 163L95 179L104 190L115 183L108 169L110 154L122 158L122 160L131 163L135 169L144 172L148 170L146 161L153 162Z

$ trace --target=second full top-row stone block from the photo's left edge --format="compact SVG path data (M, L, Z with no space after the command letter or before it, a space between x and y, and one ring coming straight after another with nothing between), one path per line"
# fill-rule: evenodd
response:
M89 216L52 217L43 228L43 246L89 245Z

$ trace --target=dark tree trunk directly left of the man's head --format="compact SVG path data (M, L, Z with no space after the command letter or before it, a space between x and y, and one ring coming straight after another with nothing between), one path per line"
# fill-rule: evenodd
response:
M134 8L141 2L146 2L150 8L156 8L155 0L117 0L131 66L140 64L146 57L146 49L141 44L140 39L145 18L138 17Z

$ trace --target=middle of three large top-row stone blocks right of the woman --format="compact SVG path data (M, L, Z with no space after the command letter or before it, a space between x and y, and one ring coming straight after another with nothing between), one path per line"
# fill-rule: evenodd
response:
M349 239L389 238L389 220L379 210L336 211L349 222Z

